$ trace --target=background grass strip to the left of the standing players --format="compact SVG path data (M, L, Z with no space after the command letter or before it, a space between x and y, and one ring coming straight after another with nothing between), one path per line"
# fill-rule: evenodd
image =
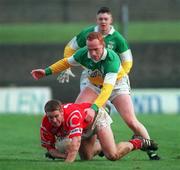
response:
M69 41L86 24L3 24L0 43L63 43Z

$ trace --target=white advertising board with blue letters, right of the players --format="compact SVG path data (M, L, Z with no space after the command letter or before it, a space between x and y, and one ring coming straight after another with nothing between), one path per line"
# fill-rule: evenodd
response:
M180 89L134 89L132 99L136 113L180 113Z

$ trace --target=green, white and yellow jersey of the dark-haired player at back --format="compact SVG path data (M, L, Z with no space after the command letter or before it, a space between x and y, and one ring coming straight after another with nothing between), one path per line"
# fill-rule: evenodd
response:
M91 32L99 32L98 25L85 28L78 35L76 35L67 44L64 51L64 57L68 58L72 56L79 48L85 47L87 36ZM106 48L111 49L118 54L122 65L122 75L128 74L133 64L133 57L126 40L118 31L114 29L113 26L111 26L109 33L104 35L104 41Z

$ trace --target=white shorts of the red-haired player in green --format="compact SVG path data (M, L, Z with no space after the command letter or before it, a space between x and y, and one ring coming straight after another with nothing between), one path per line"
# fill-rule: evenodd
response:
M81 78L80 78L80 89L83 90L85 87L91 88L97 94L101 92L101 88L95 86L89 81L87 70L84 70L82 72ZM131 91L131 88L130 88L129 76L125 75L124 77L122 77L121 80L116 81L116 84L109 97L109 100L112 101L114 98L122 94L130 94L130 91Z

